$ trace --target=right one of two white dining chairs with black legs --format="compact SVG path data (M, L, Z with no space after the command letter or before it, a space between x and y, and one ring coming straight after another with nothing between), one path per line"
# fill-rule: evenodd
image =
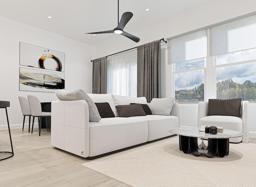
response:
M48 118L50 118L51 112L42 112L42 106L41 106L40 100L34 95L28 95L28 103L30 106L31 114L33 116L31 133L33 133L34 119L35 117L38 117L39 136L40 136L41 127L42 127L42 118L46 119L46 128L47 128L48 121L49 121ZM50 123L48 127L50 129Z

